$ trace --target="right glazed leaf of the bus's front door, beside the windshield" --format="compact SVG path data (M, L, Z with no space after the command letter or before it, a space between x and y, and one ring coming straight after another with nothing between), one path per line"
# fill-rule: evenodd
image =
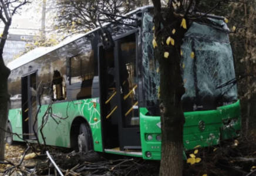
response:
M115 41L114 67L119 100L120 150L140 150L137 80L137 33Z

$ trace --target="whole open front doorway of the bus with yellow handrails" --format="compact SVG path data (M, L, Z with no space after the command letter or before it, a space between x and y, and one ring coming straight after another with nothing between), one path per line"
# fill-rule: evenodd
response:
M104 148L141 150L137 31L114 40L114 48L99 45L100 106Z

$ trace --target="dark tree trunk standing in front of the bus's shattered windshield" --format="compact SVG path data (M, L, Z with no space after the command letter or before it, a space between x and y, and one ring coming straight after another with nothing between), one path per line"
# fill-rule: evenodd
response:
M155 49L154 59L157 59L160 65L162 139L160 176L181 176L183 175L183 126L185 121L181 96L185 89L180 64L181 45L187 29L181 28L180 24L184 17L177 16L173 8L169 7L170 12L164 18L161 15L160 0L152 1L156 11L154 36L158 45ZM173 39L173 42L167 44L168 38ZM166 52L169 53L167 58L164 56Z

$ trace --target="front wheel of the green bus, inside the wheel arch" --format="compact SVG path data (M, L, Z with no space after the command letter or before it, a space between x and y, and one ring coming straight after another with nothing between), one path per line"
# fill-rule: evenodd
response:
M89 135L85 123L80 124L78 148L79 151L89 151Z

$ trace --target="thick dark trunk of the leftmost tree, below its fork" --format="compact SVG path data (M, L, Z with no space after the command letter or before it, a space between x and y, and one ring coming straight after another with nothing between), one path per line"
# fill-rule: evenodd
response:
M8 121L8 77L10 70L5 66L2 54L0 54L0 160L5 155L6 130Z

